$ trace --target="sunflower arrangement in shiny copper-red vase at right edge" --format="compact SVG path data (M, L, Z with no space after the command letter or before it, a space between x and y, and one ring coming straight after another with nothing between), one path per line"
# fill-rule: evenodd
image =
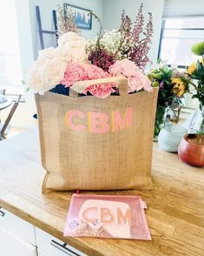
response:
M204 165L204 42L194 44L191 49L199 56L197 63L193 63L188 70L172 79L174 93L179 96L188 90L192 98L199 100L199 108L194 112L189 127L189 134L184 136L179 146L179 158L189 165Z

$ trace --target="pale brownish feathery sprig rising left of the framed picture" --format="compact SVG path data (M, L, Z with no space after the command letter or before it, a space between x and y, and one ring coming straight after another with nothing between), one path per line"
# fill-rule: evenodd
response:
M76 34L80 35L80 30L77 28L73 10L67 8L66 11L63 10L63 7L58 5L57 7L57 21L58 21L58 36L62 36L63 34L71 31L75 32Z

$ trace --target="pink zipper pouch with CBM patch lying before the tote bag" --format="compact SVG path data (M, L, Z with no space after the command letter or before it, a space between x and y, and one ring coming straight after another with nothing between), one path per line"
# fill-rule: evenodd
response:
M64 236L151 240L140 196L73 194Z

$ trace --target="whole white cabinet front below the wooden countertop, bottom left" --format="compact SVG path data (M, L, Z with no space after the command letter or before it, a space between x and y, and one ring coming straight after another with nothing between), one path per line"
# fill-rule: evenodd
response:
M87 256L0 208L0 256Z

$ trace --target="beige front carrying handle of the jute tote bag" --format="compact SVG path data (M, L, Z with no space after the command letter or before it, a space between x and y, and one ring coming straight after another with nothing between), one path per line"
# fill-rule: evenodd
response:
M105 77L95 80L84 80L73 84L70 87L69 96L77 97L78 93L82 93L87 87L94 84L118 84L120 95L128 94L128 79L126 77Z

